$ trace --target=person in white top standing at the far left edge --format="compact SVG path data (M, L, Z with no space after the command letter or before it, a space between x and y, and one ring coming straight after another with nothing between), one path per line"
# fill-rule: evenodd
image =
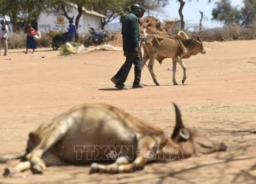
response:
M0 23L0 51L4 47L4 56L6 56L8 54L8 26L5 24L5 20L1 20Z

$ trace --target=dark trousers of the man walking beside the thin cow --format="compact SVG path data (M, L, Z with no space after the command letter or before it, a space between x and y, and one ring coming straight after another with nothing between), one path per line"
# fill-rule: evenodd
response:
M138 55L136 56L133 51L125 51L126 54L126 61L121 66L117 74L114 76L114 78L119 79L118 84L123 85L123 83L126 81L127 76L129 75L129 72L132 68L132 65L134 64L134 85L137 85L140 83L141 79L141 70L142 70L142 62L140 57Z

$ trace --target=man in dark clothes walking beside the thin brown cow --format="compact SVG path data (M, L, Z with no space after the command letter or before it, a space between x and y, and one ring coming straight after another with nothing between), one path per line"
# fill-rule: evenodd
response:
M146 38L140 37L140 25L138 17L142 17L145 10L140 5L134 4L131 6L131 12L127 14L122 22L122 38L123 38L123 52L126 60L121 66L117 74L111 78L111 81L118 89L128 89L124 82L134 64L135 78L133 88L143 88L144 85L140 83L142 61L140 53L140 39L146 41Z

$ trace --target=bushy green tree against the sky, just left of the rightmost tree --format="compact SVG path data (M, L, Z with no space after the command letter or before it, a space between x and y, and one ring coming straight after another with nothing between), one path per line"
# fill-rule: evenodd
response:
M224 22L224 24L232 24L236 22L240 24L241 14L237 7L231 6L230 0L221 0L216 2L216 8L212 9L212 19Z

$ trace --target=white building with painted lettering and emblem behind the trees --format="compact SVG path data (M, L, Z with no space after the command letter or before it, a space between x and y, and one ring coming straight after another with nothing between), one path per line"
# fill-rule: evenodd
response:
M73 20L75 23L76 16L78 15L77 5L67 5L67 12L69 17L74 16ZM49 33L50 30L67 32L69 27L69 20L61 14L62 12L42 12L39 15L37 21L37 30L47 33ZM83 13L79 19L79 25L77 29L78 33L88 33L89 27L98 29L101 26L101 18L105 18L105 16L98 12L87 10L83 7Z

